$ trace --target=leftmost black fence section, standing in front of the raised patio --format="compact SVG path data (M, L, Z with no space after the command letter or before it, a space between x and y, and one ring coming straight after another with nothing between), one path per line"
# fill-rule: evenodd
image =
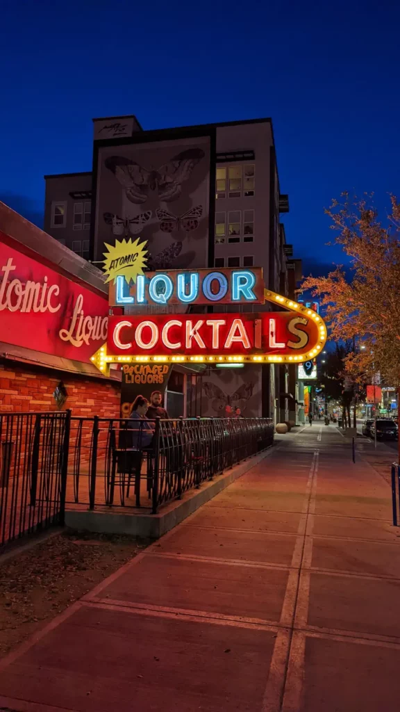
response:
M0 547L63 523L70 413L0 415Z

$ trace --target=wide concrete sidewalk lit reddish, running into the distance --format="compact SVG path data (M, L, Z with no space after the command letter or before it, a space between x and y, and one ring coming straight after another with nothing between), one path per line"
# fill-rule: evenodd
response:
M307 426L2 661L0 707L396 709L399 542L383 478Z

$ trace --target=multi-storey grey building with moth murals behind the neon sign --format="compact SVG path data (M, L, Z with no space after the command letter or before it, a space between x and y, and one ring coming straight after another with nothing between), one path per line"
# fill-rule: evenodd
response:
M288 196L270 119L146 131L126 116L93 127L92 171L45 177L48 234L99 266L105 244L140 236L152 270L262 267L265 286L294 296L299 261L280 223ZM209 369L196 414L238 404L244 415L295 419L294 381L294 366Z

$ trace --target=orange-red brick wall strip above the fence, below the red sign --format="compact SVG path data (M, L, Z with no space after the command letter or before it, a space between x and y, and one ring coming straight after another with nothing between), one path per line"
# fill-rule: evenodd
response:
M53 392L60 381L68 394L62 410L70 408L83 417L119 417L120 384L9 361L0 362L0 412L59 410Z

